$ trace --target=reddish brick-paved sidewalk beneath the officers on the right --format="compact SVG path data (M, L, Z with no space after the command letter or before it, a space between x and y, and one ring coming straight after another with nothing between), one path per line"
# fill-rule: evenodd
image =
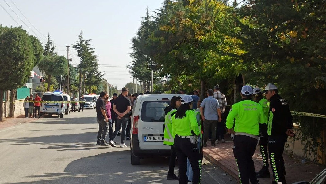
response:
M211 162L221 167L225 172L239 180L238 168L234 161L233 156L233 141L227 134L226 143L218 143L212 147L211 142L207 141L207 147L204 147L204 156L207 157ZM286 169L286 180L287 183L294 183L297 181L305 180L311 181L317 174L323 169L323 166L307 162L306 164L301 163L299 158L290 158L286 153L283 154L285 169ZM259 151L259 146L256 148L256 152L253 156L256 171L259 171L262 167L262 158ZM259 179L260 184L271 184L273 180L272 169L269 168L271 178Z

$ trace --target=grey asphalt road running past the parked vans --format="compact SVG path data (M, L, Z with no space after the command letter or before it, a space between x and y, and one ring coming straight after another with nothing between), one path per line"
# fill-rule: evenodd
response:
M178 183L166 180L167 158L131 165L128 141L127 148L96 146L95 116L95 110L45 115L0 129L0 183ZM202 168L202 183L238 183L207 160Z

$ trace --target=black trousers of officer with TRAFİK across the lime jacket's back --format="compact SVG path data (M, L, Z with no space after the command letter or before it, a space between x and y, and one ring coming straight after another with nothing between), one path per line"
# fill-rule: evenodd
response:
M257 184L256 171L252 156L255 153L257 139L235 135L233 139L233 154L239 170L239 179L242 184Z

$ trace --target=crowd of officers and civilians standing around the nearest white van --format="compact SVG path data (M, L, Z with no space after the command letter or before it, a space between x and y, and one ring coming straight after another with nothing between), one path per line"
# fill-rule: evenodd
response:
M282 154L288 136L294 136L292 115L288 102L278 94L274 84L268 84L263 91L244 85L242 99L234 103L228 113L227 100L219 85L208 89L204 99L199 90L192 91L190 95L184 95L185 91L180 90L180 94L183 95L173 96L170 105L164 109L163 144L171 148L167 179L179 180L181 184L200 183L202 148L209 140L211 146L224 143L227 132L232 135L233 154L241 183L258 184L257 178L269 178L269 161L274 177L272 183L286 184ZM96 145L116 147L114 140L122 128L120 147L126 147L124 141L130 138L131 111L137 96L137 93L128 94L125 87L119 96L114 93L110 101L107 93L100 93L96 102L99 125ZM116 123L114 132L113 123ZM109 143L106 142L108 132ZM263 162L262 169L256 172L252 156L258 141ZM176 158L179 176L174 174Z

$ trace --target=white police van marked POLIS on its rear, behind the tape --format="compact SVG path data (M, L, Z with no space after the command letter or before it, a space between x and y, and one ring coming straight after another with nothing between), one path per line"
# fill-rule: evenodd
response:
M57 101L57 102L47 102L47 101ZM61 103L59 101L62 101ZM62 92L45 92L42 97L40 114L56 114L60 118L63 118L66 111L66 106Z

